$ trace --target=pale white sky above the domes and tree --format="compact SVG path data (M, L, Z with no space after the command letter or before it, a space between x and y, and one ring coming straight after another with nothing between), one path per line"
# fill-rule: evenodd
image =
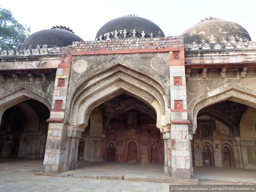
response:
M153 21L165 36L179 36L212 16L240 24L256 41L255 0L6 0L0 5L10 9L21 24L30 26L30 34L63 25L85 41L92 41L108 21L134 14Z

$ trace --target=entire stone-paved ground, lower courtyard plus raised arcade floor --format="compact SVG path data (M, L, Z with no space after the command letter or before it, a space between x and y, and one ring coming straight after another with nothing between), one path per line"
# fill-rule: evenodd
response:
M79 169L43 174L42 159L0 158L0 191L169 191L169 184L256 184L256 170L194 167L191 180L175 180L163 165L79 161ZM149 181L149 182L147 182Z

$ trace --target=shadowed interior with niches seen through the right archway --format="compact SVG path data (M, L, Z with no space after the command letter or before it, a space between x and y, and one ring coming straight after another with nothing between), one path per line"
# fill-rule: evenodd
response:
M195 153L195 159L203 162L196 160L195 166L256 168L255 114L255 108L229 100L202 108L197 114L193 144L209 144L201 146L202 156Z

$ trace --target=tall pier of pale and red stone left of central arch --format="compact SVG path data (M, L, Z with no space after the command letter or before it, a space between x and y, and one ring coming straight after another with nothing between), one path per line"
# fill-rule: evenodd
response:
M71 58L64 63L66 55L62 55L56 71L53 98L49 122L46 149L44 155L43 173L60 173L68 170L67 128L64 114L67 100L67 90L70 75Z

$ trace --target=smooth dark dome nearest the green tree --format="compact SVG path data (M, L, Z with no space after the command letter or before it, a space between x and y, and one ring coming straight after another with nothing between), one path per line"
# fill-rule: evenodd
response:
M35 48L37 45L48 45L48 47L66 47L72 45L73 41L83 41L79 36L64 29L45 29L31 34L23 43L22 48L30 45Z

